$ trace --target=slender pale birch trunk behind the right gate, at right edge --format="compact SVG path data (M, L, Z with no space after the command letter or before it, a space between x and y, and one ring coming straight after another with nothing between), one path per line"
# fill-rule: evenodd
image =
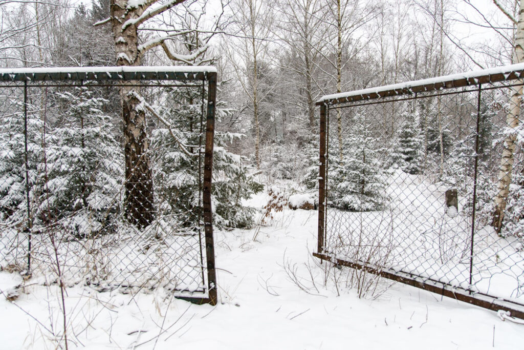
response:
M524 1L520 2L519 19L515 33L515 51L513 52L513 63L524 61ZM519 80L519 83L522 83ZM511 184L511 172L513 169L513 155L516 148L517 128L519 126L520 103L522 100L522 86L511 87L511 98L509 100L509 112L506 116L506 140L500 160L498 175L497 194L495 195L495 210L492 225L500 233L506 210L506 201Z

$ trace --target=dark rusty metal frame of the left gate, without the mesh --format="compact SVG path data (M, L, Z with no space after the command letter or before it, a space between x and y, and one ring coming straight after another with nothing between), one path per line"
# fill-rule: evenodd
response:
M187 291L178 291L174 297L187 300L195 304L209 303L217 304L217 283L215 271L215 252L212 224L212 169L213 169L213 139L215 129L215 105L216 105L216 86L217 72L214 67L59 67L59 68L3 68L0 69L0 82L4 83L0 88L23 88L24 89L24 113L26 114L27 123L27 89L30 87L40 87L45 84L46 87L70 86L73 82L94 82L94 87L119 87L124 86L126 82L134 81L133 86L144 87L196 87L202 88L204 92L205 82L208 82L208 104L205 120L205 151L204 151L204 171L202 182L202 208L204 224L204 245L206 252L206 269L207 269L207 293L203 296L193 296L192 292L184 295ZM140 81L144 83L139 83ZM148 81L157 81L157 83L148 83ZM164 82L164 83L160 83ZM178 83L177 83L178 82ZM183 82L183 83L180 83ZM9 84L11 83L11 84ZM40 85L39 85L40 84ZM202 93L202 101L204 93ZM204 112L204 107L202 107ZM27 124L26 124L27 134ZM27 137L27 135L26 135ZM27 145L26 145L27 147ZM27 152L27 148L26 148ZM27 153L26 153L27 157ZM200 235L199 235L200 236ZM31 234L29 239L28 269L30 269L30 251L31 251ZM202 242L200 249L202 255ZM202 261L203 263L203 261ZM202 273L202 277L203 273ZM203 281L205 283L205 279ZM205 295L207 294L207 295Z

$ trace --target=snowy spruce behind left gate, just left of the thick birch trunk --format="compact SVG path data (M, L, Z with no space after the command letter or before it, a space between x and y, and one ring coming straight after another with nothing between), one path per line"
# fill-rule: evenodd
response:
M73 234L85 236L118 210L123 157L102 111L106 100L86 87L58 95L69 108L49 131L37 217L44 224L65 219Z

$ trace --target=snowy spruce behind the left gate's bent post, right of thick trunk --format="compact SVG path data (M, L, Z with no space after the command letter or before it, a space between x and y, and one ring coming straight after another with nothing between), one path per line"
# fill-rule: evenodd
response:
M160 111L168 128L154 130L151 140L152 147L158 150L154 158L158 207L175 214L185 229L196 229L202 213L204 153L203 144L202 147L199 145L203 142L201 137L205 137L202 107L206 106L206 101L202 101L201 93L202 90L170 88L166 103L170 107ZM205 89L203 93L206 95ZM231 113L224 102L216 103L219 118ZM172 133L176 134L178 141L174 140ZM215 132L213 220L215 225L223 228L251 226L254 209L245 207L242 201L262 189L249 175L246 158L226 150L228 143L242 136Z

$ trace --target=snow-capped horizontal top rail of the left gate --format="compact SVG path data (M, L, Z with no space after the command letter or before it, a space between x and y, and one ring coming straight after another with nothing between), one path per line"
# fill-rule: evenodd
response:
M202 80L216 75L211 66L119 66L2 68L0 81L50 80Z

